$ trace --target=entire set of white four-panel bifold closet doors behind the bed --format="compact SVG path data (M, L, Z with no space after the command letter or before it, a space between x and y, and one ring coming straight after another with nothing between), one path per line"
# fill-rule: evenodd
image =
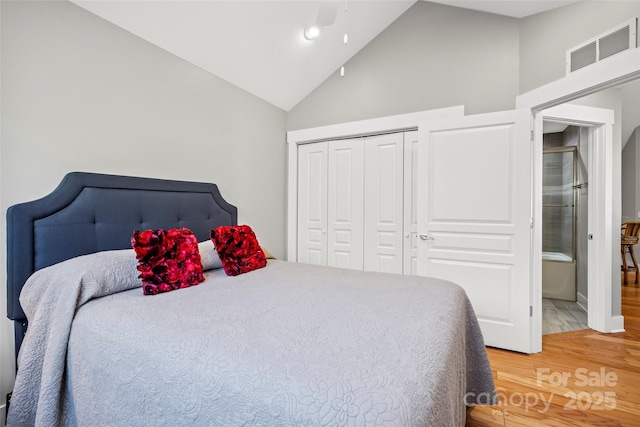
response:
M300 145L298 262L415 274L416 150L417 132Z

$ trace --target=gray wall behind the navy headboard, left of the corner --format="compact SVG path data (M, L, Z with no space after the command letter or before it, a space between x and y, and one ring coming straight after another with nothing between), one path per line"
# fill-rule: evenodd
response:
M69 2L3 0L1 18L2 224L74 170L215 182L284 257L282 110ZM4 315L0 328L1 405L14 372Z

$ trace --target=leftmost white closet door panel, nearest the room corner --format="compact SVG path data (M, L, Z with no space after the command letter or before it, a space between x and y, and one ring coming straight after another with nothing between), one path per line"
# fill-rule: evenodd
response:
M327 143L298 147L298 262L327 265Z

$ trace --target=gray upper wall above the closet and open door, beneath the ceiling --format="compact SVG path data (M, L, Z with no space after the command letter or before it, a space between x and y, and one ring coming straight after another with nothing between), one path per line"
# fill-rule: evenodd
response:
M287 115L287 130L464 105L501 111L565 76L565 54L640 1L578 2L523 19L419 1Z

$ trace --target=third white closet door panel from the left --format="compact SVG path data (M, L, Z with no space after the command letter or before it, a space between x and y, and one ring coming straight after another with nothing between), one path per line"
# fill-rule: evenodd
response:
M403 135L364 143L364 269L402 274Z

